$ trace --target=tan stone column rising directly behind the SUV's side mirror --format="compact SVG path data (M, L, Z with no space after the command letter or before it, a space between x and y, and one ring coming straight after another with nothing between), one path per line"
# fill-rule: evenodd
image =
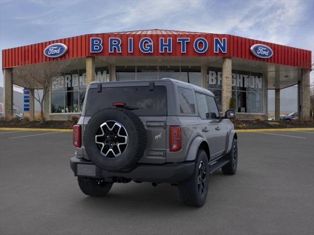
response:
M222 58L222 113L229 109L232 91L232 60L231 57Z

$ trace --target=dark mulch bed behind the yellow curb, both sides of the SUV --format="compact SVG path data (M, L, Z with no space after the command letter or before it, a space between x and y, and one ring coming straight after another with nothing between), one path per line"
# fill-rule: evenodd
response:
M72 129L75 125L73 121L3 121L0 120L0 127L15 127L15 128L53 128L53 129ZM236 130L245 129L278 129L278 128L314 128L314 121L248 121L236 120Z

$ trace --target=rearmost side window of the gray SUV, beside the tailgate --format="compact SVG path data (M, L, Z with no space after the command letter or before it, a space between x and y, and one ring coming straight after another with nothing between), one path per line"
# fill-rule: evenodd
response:
M178 87L180 112L183 114L195 114L195 104L192 90Z

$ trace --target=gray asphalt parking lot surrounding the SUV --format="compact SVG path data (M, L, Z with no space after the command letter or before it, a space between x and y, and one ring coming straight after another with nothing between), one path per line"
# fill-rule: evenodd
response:
M314 234L314 132L238 133L238 170L210 177L190 208L168 184L114 184L85 196L72 133L0 131L0 234Z

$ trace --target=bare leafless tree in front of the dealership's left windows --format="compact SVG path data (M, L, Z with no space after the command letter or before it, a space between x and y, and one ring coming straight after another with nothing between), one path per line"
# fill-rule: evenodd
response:
M17 67L13 70L13 76L22 81L26 88L40 104L40 121L44 122L44 100L50 92L52 84L57 77L67 69L69 61L52 61L35 65L26 65ZM43 95L40 96L38 89L43 90ZM35 91L36 94L35 95Z

